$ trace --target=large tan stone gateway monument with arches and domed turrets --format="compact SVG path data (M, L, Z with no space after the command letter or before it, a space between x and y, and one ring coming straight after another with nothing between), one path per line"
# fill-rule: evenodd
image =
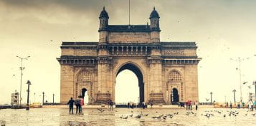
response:
M110 25L105 8L99 19L98 42L62 42L60 103L85 92L89 104L115 102L115 79L125 69L138 77L140 103L198 100L196 43L160 41L155 8L150 25Z

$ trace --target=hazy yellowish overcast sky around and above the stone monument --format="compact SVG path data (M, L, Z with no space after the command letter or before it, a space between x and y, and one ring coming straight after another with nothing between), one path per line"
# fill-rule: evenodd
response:
M44 91L60 101L60 57L62 41L98 41L98 16L103 6L110 24L128 24L128 0L1 0L0 1L0 104L10 103L19 90L16 56L24 61L22 97L26 101L27 80L31 80L32 102ZM256 1L254 0L131 0L131 23L146 24L153 6L160 14L161 41L195 41L199 63L199 101L240 100L237 61L242 61L243 97L255 93ZM127 76L131 75L126 73ZM123 79L125 81L125 79ZM121 82L122 83L122 82ZM123 82L124 83L124 82ZM135 84L137 85L137 84ZM247 86L251 85L251 89ZM136 88L136 87L135 87ZM55 101L56 101L55 100Z

